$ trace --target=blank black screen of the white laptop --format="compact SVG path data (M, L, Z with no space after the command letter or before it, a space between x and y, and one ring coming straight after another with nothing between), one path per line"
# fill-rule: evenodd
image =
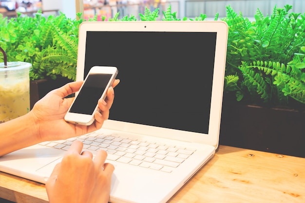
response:
M87 31L84 77L115 66L111 120L208 134L215 32Z

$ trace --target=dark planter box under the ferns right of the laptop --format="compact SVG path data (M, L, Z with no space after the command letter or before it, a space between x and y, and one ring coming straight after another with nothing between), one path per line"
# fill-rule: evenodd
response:
M305 157L305 111L224 102L220 144Z

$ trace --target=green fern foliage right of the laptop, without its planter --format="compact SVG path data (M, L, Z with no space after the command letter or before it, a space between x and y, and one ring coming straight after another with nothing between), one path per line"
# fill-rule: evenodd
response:
M227 6L225 92L238 101L305 104L305 15L289 13L291 8L275 6L270 17L258 9L250 22Z

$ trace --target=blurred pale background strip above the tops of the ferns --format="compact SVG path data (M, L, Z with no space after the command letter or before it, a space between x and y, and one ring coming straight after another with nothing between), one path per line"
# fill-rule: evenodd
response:
M293 6L292 12L305 13L305 0L0 0L0 13L4 17L15 17L17 12L34 15L41 10L46 16L62 12L68 18L76 18L76 13L81 12L84 18L95 15L100 18L114 17L119 12L119 18L131 15L138 18L145 7L151 11L156 8L164 11L171 5L172 13L176 12L177 18L195 18L206 14L208 19L213 19L216 13L219 18L225 17L226 6L230 5L235 12L253 18L257 8L270 16L275 5L284 7L286 4ZM162 17L161 12L159 16Z

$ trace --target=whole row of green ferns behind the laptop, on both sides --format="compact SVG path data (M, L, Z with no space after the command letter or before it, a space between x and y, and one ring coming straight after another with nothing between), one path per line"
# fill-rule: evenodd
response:
M227 16L221 20L229 26L224 92L240 102L266 105L305 104L305 14L289 12L274 6L270 16L257 9L250 21L227 6ZM165 10L151 11L147 7L139 14L142 21L205 20L177 18L171 5ZM33 64L31 79L58 75L76 78L78 27L84 19L66 18L64 14L44 18L41 12L34 18L3 18L0 14L0 46L7 51L9 61ZM106 16L101 18L106 20ZM96 21L97 16L89 18ZM135 16L119 19L119 13L109 21L135 21ZM214 20L218 20L218 13ZM33 29L34 28L34 29ZM2 58L1 58L2 57ZM3 56L0 56L0 61Z

